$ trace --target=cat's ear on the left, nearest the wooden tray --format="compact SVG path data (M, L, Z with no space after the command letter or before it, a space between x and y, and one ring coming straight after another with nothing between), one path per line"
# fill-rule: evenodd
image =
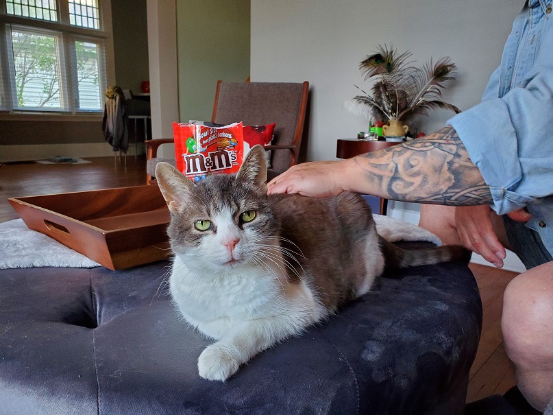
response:
M156 180L169 211L173 213L177 213L179 206L188 199L196 186L175 167L163 161L156 165Z

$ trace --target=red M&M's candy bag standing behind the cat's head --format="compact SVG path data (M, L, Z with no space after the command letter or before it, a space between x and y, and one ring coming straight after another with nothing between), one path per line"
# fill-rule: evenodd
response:
M244 158L242 123L206 127L173 123L177 169L198 182L208 174L236 173Z

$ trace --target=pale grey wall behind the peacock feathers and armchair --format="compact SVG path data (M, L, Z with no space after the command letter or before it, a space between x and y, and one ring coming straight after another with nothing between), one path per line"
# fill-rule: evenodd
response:
M379 44L426 62L450 56L457 81L443 98L460 109L480 100L523 0L251 0L251 80L307 80L312 86L308 160L335 158L336 139L367 130L343 104L367 86L358 64ZM270 16L270 19L267 18ZM452 115L432 110L417 130L437 130Z

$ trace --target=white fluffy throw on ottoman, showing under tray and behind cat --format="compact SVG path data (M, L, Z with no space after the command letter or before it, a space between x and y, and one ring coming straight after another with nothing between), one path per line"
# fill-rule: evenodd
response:
M374 215L378 233L391 242L429 241L441 245L428 230L392 217ZM32 267L93 268L99 263L67 248L40 232L27 228L23 220L0 224L0 269Z

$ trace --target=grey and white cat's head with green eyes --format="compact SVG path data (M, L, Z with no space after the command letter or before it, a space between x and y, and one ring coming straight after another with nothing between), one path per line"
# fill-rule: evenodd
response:
M156 179L171 212L171 248L188 263L211 270L251 266L264 245L275 244L278 225L267 200L260 145L252 147L237 174L195 184L168 163L158 163Z

